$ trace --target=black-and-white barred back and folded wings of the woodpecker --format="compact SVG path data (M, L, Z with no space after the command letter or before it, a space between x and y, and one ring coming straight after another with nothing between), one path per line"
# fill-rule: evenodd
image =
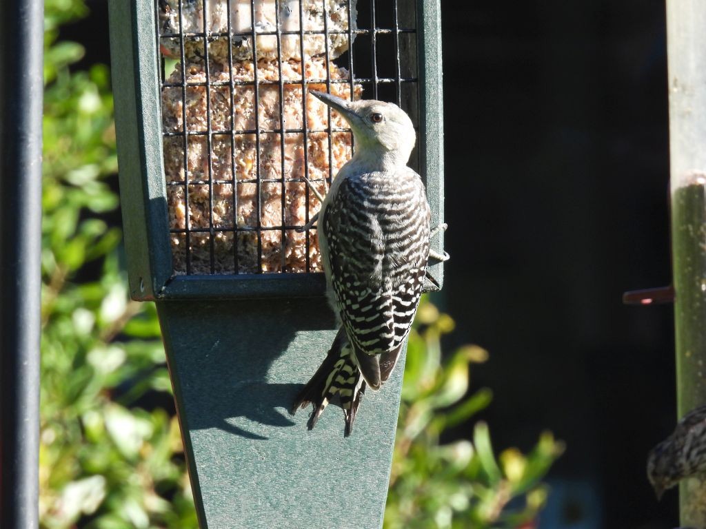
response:
M349 177L323 219L331 283L361 372L390 376L417 312L429 257L429 205L419 176Z

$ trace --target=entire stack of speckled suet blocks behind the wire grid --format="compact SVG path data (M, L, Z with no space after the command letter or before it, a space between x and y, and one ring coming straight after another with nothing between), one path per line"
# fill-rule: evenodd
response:
M321 272L316 236L296 231L321 207L302 178L325 194L325 179L351 157L351 136L328 133L346 123L329 123L304 87L351 98L351 85L336 83L348 71L333 63L354 37L354 1L350 11L347 0L160 2L160 51L177 59L162 87L174 273ZM303 30L303 42L278 39L278 27ZM270 35L253 49L260 33ZM361 86L354 92L359 99Z

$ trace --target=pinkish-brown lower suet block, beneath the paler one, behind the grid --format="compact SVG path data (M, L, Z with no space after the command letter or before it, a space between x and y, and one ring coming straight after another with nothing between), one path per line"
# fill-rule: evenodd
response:
M337 68L333 63L328 67L331 79L347 76L344 68ZM162 128L167 133L180 133L164 138L169 226L172 229L186 228L187 216L190 230L213 226L213 273L216 274L257 272L258 244L262 272L306 272L306 234L291 228L284 231L273 228L282 225L304 226L321 207L301 180L305 176L305 157L308 165L306 174L316 182L322 194L328 187L325 179L329 177L329 171L336 174L351 157L350 133L334 132L329 138L326 132L328 111L311 95L306 97L306 125L307 130L311 131L307 134L306 146L304 133L285 133L282 147L282 135L276 132L280 128L280 109L284 110L282 117L288 129L301 129L304 125L302 65L294 60L286 61L281 66L263 60L258 62L257 77L259 82L278 81L280 68L284 95L282 105L278 84L261 85L257 104L253 85L236 85L231 99L227 85L231 69L227 56L210 56L208 79L210 83L217 84L208 88L205 86L204 61L192 59L187 64L186 105L182 87L178 86L184 75L181 65L177 65L167 78L172 86L162 90ZM323 57L309 59L304 64L304 76L308 80L326 79L326 68L327 61ZM237 82L254 83L255 75L252 61L233 63L232 77ZM307 86L325 90L324 83L309 83ZM349 99L350 87L346 83L334 83L331 93ZM356 97L360 95L361 88L357 87ZM347 128L345 121L336 114L333 114L331 121L334 129ZM234 138L231 137L231 130L255 130L256 127L265 131L259 133L259 138L253 133L236 133ZM186 156L182 135L184 129L195 134L189 135L186 142ZM208 130L222 133L213 133L209 138ZM266 132L268 130L270 132ZM280 183L282 152L285 157L284 200ZM214 182L213 186L210 186L210 181ZM185 196L186 193L189 197ZM307 193L309 197L306 197ZM234 224L239 228L249 227L252 231L239 231L237 240L234 240L234 233L228 231ZM260 227L265 229L258 234ZM184 274L186 234L172 233L171 242L174 272ZM188 244L190 272L210 274L210 234L190 233ZM234 252L238 257L237 270ZM312 237L309 245L309 263L310 272L321 272L316 236Z

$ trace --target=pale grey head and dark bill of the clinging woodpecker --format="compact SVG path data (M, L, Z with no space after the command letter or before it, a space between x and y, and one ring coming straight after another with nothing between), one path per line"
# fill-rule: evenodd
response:
M412 120L394 103L373 99L347 101L325 92L311 91L349 123L357 155L382 157L386 163L406 165L417 135Z

